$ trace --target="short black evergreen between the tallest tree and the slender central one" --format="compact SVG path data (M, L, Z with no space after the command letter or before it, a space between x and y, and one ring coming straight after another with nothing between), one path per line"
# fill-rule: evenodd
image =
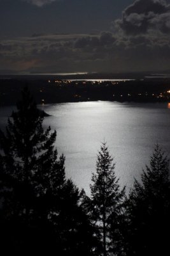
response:
M84 191L67 180L60 204L60 214L53 215L52 222L59 234L61 253L63 256L96 255L98 246L94 236L95 228L83 206Z

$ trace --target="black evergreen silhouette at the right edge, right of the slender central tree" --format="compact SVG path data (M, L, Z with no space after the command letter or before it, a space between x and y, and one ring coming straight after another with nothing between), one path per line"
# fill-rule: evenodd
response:
M134 182L129 200L129 233L127 255L168 255L170 228L169 161L155 146L150 166Z

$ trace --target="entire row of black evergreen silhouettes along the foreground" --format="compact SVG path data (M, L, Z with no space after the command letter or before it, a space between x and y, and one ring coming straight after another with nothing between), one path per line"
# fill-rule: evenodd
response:
M144 256L169 252L169 159L155 145L150 166L129 192L120 188L106 142L91 195L66 179L56 131L28 88L0 130L0 250L4 255Z

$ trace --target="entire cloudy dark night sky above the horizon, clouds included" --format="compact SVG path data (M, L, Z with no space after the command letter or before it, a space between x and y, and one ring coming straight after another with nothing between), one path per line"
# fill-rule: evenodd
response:
M167 72L170 0L0 0L0 72Z

